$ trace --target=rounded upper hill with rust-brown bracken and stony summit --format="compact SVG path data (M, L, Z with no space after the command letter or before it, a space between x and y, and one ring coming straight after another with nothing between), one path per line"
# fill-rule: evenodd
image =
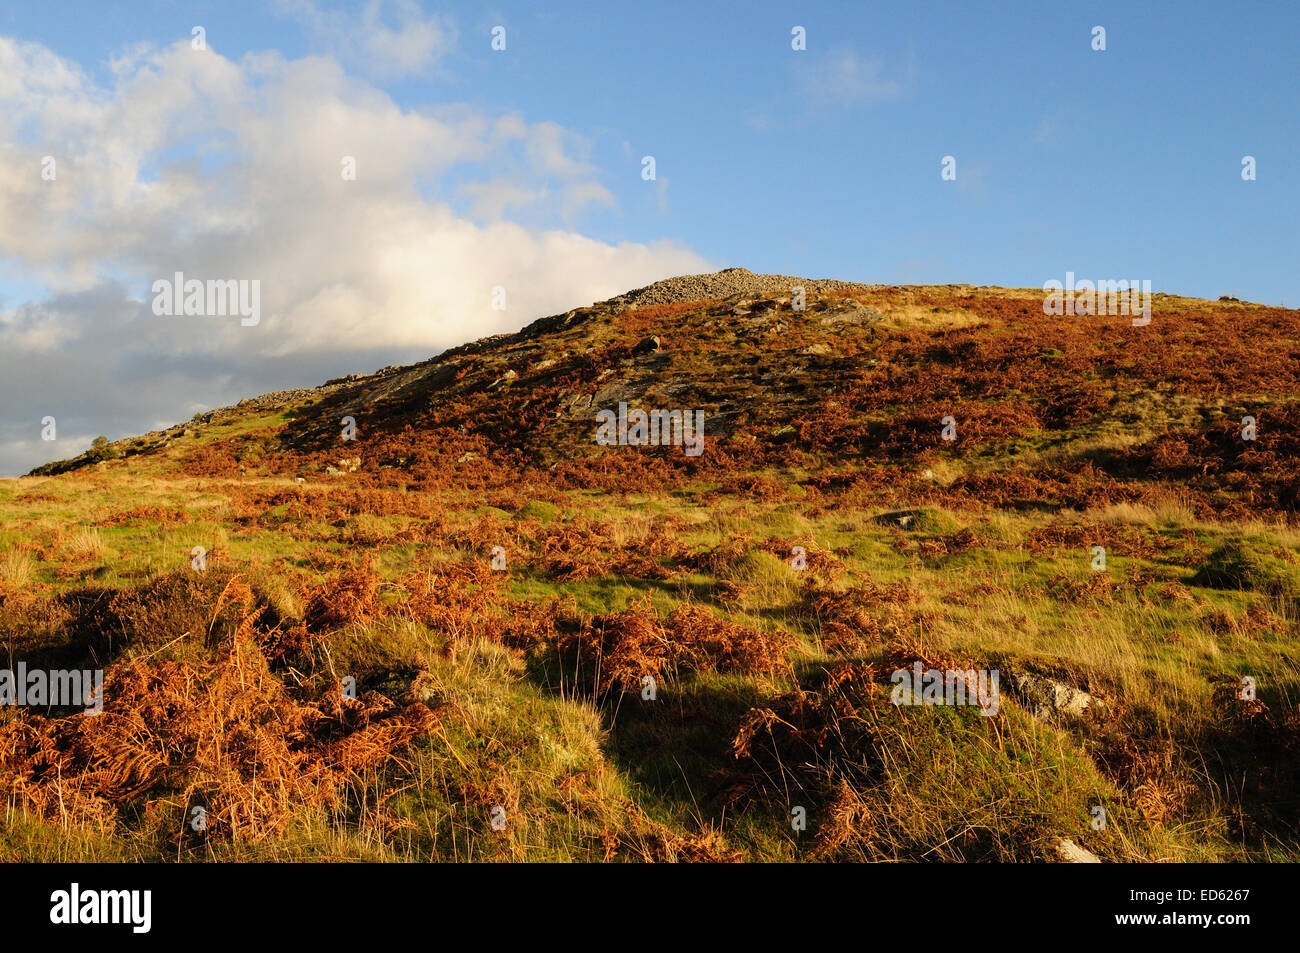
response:
M802 311L792 308L793 287L807 295ZM696 296L710 291L731 294ZM143 454L190 476L313 480L337 469L343 450L361 455L355 481L380 486L441 478L436 469L489 485L494 460L567 475L598 458L619 480L680 471L659 449L612 464L594 445L595 413L623 402L703 410L722 471L744 458L793 472L815 456L823 477L901 468L909 491L939 499L954 488L1010 490L1010 463L1026 493L1060 504L1174 490L1201 512L1292 512L1296 312L1169 295L1156 303L1160 320L1134 328L1122 316L1046 317L1037 291L728 269L656 282L421 364L248 399L34 475ZM940 423L949 415L950 443ZM1248 416L1261 421L1253 442L1238 433ZM283 421L252 425L274 417ZM344 417L355 442L341 438ZM937 463L944 478L916 482L935 471L922 463Z

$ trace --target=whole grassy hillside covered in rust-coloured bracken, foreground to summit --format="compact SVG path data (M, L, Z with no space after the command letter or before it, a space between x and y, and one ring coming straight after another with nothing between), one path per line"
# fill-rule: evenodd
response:
M10 664L105 670L103 715L0 709L0 857L1300 858L1300 312L788 294L0 481ZM598 446L620 402L705 451ZM890 703L918 660L997 714Z

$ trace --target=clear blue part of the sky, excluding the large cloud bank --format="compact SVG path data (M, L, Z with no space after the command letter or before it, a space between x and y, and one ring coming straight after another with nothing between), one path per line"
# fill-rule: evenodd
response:
M1296 5L705 7L424 4L454 47L380 86L406 108L520 111L588 137L618 208L577 224L602 241L676 238L754 270L1037 286L1069 269L1300 304ZM274 4L10 4L3 31L94 69L194 23L233 59L322 52ZM819 73L827 57L897 91L815 96L838 75Z

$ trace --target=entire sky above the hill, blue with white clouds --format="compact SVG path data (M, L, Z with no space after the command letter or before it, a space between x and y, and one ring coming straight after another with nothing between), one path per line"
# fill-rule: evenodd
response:
M0 473L682 269L1022 287L1074 272L1300 306L1294 4L705 7L6 4L0 172L46 153L70 172L0 195L0 372L52 381L0 394L17 407ZM344 151L351 194L321 173ZM325 260L322 234L358 250ZM428 263L443 270L394 290ZM182 267L255 273L269 319L148 324L142 289ZM498 282L507 316L485 311ZM143 368L151 386L121 384ZM34 443L30 417L60 400L70 436Z

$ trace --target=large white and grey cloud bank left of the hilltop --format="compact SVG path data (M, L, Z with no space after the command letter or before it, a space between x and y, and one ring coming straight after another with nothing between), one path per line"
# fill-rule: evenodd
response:
M47 413L121 436L708 269L676 244L545 228L614 204L554 124L402 109L322 57L233 62L182 42L114 70L100 87L0 38L0 272L51 295L0 313L0 473L66 455L32 443ZM458 216L456 195L490 224ZM497 221L524 204L533 228ZM259 280L261 322L156 317L150 286L173 272Z

